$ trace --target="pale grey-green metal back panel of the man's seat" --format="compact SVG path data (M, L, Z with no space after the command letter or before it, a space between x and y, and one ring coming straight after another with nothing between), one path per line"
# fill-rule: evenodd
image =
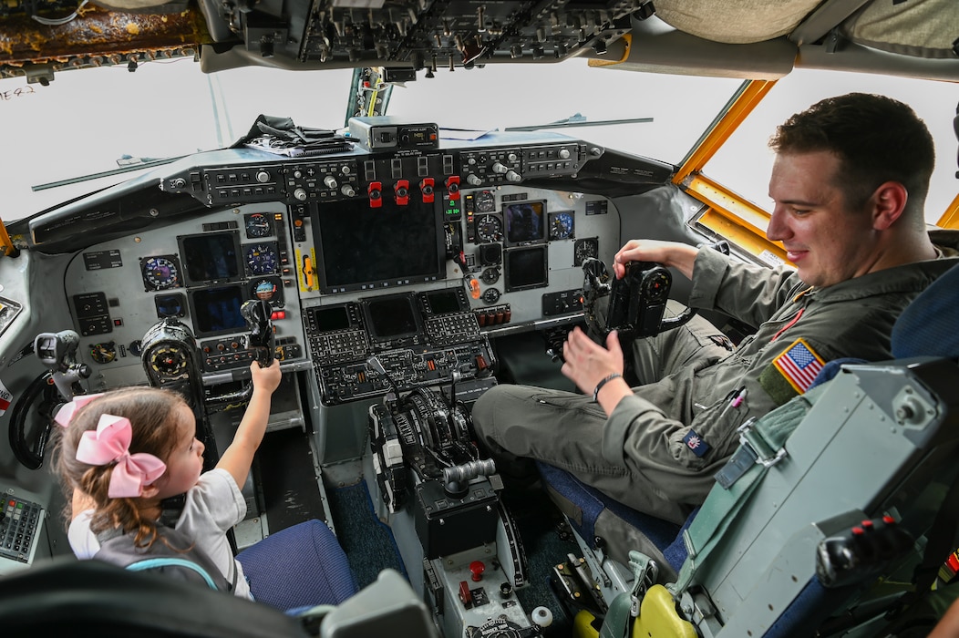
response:
M831 382L789 438L788 456L770 468L696 576L727 620L724 632L761 635L815 573L815 545L823 532L810 523L855 510L883 513L901 468L911 468L927 451L916 434L937 432L955 419L955 406L925 390L917 372L931 373L902 364L852 366ZM959 378L954 365L951 374L953 381ZM901 394L891 385L908 388L936 409L914 423L898 422ZM956 437L936 443L954 446ZM924 487L912 483L901 502L915 500ZM931 517L919 526L929 523Z

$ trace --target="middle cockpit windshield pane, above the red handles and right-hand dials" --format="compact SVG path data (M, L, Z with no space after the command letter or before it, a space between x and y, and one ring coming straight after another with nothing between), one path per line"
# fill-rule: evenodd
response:
M601 146L678 164L740 80L589 67L585 59L487 64L396 86L387 114L469 130L538 125Z

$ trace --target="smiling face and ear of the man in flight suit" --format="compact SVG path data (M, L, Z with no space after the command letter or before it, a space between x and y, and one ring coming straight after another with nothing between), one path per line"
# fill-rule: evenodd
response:
M826 151L779 154L769 180L774 202L766 237L783 242L800 279L830 286L869 272L877 231L868 210L851 211L834 175L839 159Z

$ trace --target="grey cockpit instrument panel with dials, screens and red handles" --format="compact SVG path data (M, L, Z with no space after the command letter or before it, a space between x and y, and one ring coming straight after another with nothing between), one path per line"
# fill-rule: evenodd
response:
M144 378L159 321L196 337L208 385L228 380L252 358L247 299L269 302L281 366L312 369L327 405L492 373L490 339L577 320L582 261L619 248L612 202L559 188L602 150L561 140L172 164L160 188L201 213L163 220L145 192L164 223L67 269L91 390Z

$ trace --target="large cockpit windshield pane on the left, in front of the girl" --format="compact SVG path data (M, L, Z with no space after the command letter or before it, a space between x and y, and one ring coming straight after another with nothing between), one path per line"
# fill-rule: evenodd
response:
M58 73L48 86L0 80L5 123L0 218L10 223L144 173L230 146L260 114L343 126L352 70L245 67L204 74L191 59Z

